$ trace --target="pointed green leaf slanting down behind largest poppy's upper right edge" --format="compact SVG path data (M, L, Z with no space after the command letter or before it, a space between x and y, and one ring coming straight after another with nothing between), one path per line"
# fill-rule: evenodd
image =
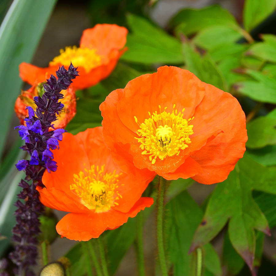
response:
M207 54L200 56L192 44L182 44L186 60L186 68L194 73L201 81L212 84L221 90L227 90L225 80L217 65Z

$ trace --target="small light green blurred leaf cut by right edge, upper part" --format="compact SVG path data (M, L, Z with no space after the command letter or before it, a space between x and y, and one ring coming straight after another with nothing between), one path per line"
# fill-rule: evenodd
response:
M276 62L276 46L266 42L259 42L252 45L246 54L255 56L263 61Z

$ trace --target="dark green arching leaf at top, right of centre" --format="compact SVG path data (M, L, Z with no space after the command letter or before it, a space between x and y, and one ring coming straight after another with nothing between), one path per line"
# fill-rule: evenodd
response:
M179 11L170 21L169 26L178 26L177 31L190 36L203 28L213 25L236 26L235 17L218 5L201 10L184 9Z

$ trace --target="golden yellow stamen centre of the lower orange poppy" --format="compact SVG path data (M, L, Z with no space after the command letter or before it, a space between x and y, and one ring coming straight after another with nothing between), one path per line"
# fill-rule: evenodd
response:
M118 193L118 176L116 171L105 173L105 165L101 168L91 166L90 170L80 171L74 174L74 184L70 189L81 198L81 203L96 213L110 210L121 195Z

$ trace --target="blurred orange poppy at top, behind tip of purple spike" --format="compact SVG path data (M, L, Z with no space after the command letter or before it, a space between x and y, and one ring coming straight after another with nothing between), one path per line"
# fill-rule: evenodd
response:
M40 68L28 63L19 65L20 77L33 85L36 81L56 75L59 66L68 69L70 63L78 67L79 77L73 80L75 89L84 89L107 78L115 68L118 59L125 52L128 30L109 24L98 24L82 33L80 47L66 47L60 50L47 68Z

